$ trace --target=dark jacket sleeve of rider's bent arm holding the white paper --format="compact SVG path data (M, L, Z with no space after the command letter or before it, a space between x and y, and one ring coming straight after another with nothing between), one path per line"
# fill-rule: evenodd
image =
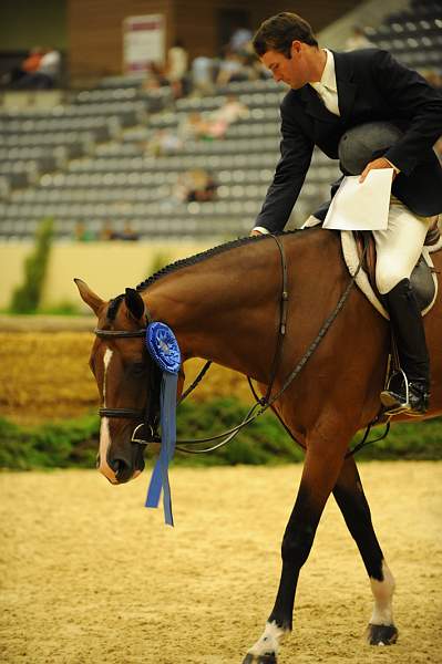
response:
M372 76L397 117L410 123L402 138L386 154L387 159L410 175L442 134L442 94L387 51L376 52Z

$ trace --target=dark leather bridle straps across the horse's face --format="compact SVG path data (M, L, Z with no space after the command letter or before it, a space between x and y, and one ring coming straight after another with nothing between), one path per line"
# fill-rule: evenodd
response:
M94 330L95 336L100 339L141 339L145 338L147 328L141 330L102 330L96 328ZM122 419L142 419L133 433L131 443L140 443L147 445L147 443L160 443L161 438L157 433L157 414L155 413L153 394L155 390L155 364L152 362L152 371L150 372L150 392L147 395L146 407L144 411L136 411L135 408L100 408L100 417L116 417ZM137 432L145 427L148 434L147 438L137 438Z

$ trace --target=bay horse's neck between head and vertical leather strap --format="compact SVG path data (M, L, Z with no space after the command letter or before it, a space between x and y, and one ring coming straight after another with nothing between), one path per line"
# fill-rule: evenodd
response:
M207 357L246 372L245 340L251 347L257 334L265 336L266 317L278 307L280 259L270 242L181 268L145 291L147 307L174 330L184 357Z

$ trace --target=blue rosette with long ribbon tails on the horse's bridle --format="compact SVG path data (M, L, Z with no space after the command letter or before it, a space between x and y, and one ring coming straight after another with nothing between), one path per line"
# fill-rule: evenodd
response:
M148 485L146 507L158 507L163 489L164 519L174 525L172 513L168 465L175 453L176 443L176 390L181 366L181 352L175 334L165 323L154 322L146 330L147 350L162 370L161 381L161 452Z

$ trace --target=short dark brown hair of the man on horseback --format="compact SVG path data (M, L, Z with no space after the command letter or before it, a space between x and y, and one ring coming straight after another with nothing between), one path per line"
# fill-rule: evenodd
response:
M291 43L295 40L310 46L318 45L310 23L298 14L284 11L260 24L253 44L259 56L267 51L278 51L286 58L291 58Z

